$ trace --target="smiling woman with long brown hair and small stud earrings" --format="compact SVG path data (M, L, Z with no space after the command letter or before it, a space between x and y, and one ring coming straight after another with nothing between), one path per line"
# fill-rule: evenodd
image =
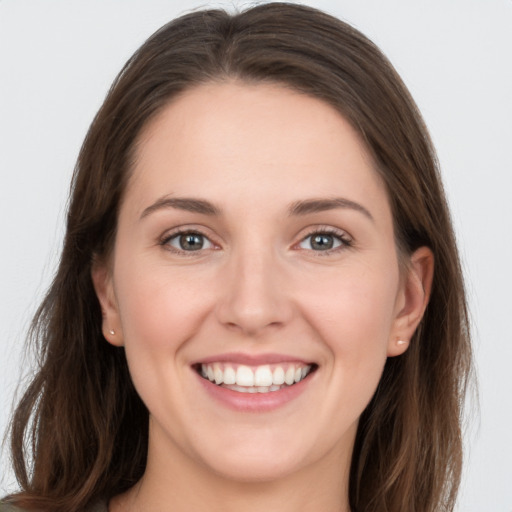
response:
M136 52L34 327L6 510L453 510L470 345L434 151L326 14L196 12Z

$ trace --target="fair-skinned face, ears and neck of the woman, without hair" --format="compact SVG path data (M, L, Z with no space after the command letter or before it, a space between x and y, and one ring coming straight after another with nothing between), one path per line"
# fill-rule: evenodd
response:
M136 156L93 281L150 412L149 453L110 510L347 512L358 419L421 319L430 251L400 271L359 137L280 86L191 89ZM304 378L242 393L241 366Z

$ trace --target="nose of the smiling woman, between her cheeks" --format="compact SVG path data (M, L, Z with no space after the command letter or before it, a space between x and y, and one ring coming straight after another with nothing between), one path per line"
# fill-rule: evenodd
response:
M286 271L270 250L233 253L223 273L217 318L226 327L258 337L293 316Z

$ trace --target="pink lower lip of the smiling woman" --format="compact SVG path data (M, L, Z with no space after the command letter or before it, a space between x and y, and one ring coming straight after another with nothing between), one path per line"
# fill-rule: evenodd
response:
M267 412L283 407L301 395L307 389L313 377L313 374L310 374L304 380L293 384L293 386L286 386L278 391L269 391L268 393L241 393L218 386L204 379L197 374L197 372L196 375L201 385L210 396L226 407L240 412Z

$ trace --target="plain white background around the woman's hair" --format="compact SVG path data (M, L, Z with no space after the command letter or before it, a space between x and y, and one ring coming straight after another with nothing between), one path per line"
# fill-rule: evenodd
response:
M80 144L116 73L191 0L0 0L0 432L58 262ZM512 1L311 0L388 55L437 147L466 273L480 416L461 512L512 512ZM475 403L471 405L475 407ZM14 488L6 447L0 495Z

